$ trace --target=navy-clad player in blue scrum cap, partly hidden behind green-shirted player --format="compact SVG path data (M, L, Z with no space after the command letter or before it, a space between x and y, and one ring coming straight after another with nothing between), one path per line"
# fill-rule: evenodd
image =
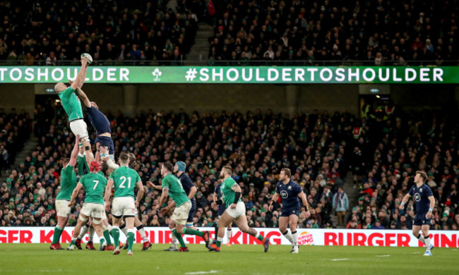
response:
M179 181L181 183L181 186L184 188L186 195L191 201L191 209L188 214L188 219L186 219L186 228L194 229L196 228L193 227L193 217L194 214L196 213L196 200L194 200L194 195L196 194L196 191L198 190L196 186L193 184L193 181L191 181L191 178L186 175L185 173L186 169L186 164L183 161L177 161L174 165L174 173L177 175L177 178L179 178ZM147 182L149 186L152 186L153 183ZM156 190L162 190L161 186L159 185L153 185ZM165 251L179 251L177 248L177 238L175 238L175 235L172 234L172 245L165 249Z

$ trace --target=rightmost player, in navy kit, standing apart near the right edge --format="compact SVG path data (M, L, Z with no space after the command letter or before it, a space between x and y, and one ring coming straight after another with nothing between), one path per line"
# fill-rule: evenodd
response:
M410 189L410 192L403 197L400 203L400 209L405 208L405 203L410 200L410 197L415 197L416 216L413 219L413 235L426 245L424 256L431 256L431 249L434 245L430 243L429 227L432 224L432 211L434 211L435 197L432 190L427 184L427 173L424 171L416 171L415 185ZM422 231L422 235L419 234Z

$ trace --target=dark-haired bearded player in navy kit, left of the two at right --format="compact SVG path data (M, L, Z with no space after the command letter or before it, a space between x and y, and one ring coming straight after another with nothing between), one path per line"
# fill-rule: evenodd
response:
M306 207L306 219L309 218L309 204L306 200L306 195L302 188L290 179L290 169L284 168L280 171L279 182L273 195L273 200L270 200L269 211L273 211L273 202L276 202L282 197L282 209L280 210L279 231L287 240L292 243L292 253L298 253L298 232L297 224L299 218L299 200L302 199L304 207ZM287 224L290 226L290 231L287 230Z

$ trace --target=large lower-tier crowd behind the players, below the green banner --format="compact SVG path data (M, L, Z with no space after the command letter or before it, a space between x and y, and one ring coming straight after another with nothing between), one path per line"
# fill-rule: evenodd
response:
M55 106L53 112L45 109L37 106L37 114L44 119L55 116L56 123L44 131L35 126L39 145L1 183L0 226L56 224L54 200L61 159L70 155L74 137L61 106ZM118 111L107 112L107 117L116 157L121 151L133 152L138 163L135 169L144 183L160 184L163 161L185 161L186 173L198 188L195 226L215 226L217 211L210 202L220 168L229 164L243 189L249 226L278 226L279 204L269 212L268 200L275 192L280 169L288 167L311 204L309 219L302 208L300 228L335 226L330 219L333 196L345 184L360 188L358 202L350 202L347 228L411 228L412 205L399 211L398 204L412 185L415 171L422 169L429 173L428 184L437 200L432 228L456 230L458 116L439 112L432 118L375 110L362 118L326 111L289 117L260 109L246 114L149 110L131 118ZM94 140L93 130L90 135ZM354 183L348 173L354 174ZM168 218L152 211L159 197L158 191L149 190L139 204L144 226L167 226ZM76 223L83 200L83 195L77 197L69 225Z

